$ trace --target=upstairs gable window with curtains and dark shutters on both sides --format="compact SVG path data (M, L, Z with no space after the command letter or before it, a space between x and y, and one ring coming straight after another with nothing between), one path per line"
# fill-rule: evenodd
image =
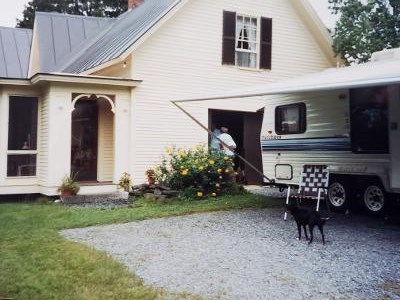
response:
M224 11L222 64L271 69L272 19Z

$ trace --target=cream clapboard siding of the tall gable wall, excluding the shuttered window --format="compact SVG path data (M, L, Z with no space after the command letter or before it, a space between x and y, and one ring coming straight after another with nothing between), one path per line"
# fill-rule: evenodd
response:
M271 71L221 64L224 10L272 18ZM132 54L132 78L143 80L132 96L131 172L135 181L144 180L145 169L160 160L166 146L207 142L207 133L170 100L317 72L331 67L330 59L288 0L190 1ZM207 125L207 109L190 106L189 112Z

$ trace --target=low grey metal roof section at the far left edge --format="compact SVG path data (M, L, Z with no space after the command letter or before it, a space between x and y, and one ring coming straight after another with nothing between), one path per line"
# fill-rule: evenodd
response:
M0 27L0 77L28 76L32 30Z

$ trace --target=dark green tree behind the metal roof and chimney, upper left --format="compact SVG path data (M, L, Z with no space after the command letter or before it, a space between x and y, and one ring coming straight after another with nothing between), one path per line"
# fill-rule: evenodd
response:
M95 17L117 17L127 10L127 0L32 0L17 20L17 27L33 28L35 12L59 12Z

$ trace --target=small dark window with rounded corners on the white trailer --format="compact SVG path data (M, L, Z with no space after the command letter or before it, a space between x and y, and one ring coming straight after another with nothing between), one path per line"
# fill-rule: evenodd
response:
M306 131L306 105L295 103L275 108L275 132L299 134Z

